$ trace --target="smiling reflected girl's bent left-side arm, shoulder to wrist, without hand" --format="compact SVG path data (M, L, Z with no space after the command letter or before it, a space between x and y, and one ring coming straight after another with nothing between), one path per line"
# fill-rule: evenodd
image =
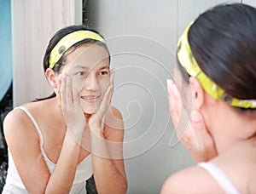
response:
M4 120L4 134L20 178L29 193L68 193L79 154L79 146L68 133L53 174L49 173L44 162L38 133L24 112L10 112Z

